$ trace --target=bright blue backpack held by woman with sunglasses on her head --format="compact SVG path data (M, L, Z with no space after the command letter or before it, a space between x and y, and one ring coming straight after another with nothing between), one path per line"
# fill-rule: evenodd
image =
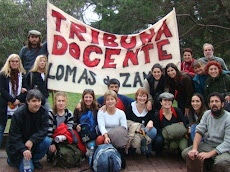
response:
M83 142L97 138L96 123L92 111L81 115L79 123L81 125L80 135Z

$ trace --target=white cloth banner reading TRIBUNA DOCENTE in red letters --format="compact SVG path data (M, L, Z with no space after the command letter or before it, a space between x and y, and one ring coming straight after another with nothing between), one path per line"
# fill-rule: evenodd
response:
M117 35L83 24L48 3L48 88L82 93L94 89L104 94L108 80L117 78L120 94L143 86L155 63L180 64L175 10L138 34Z

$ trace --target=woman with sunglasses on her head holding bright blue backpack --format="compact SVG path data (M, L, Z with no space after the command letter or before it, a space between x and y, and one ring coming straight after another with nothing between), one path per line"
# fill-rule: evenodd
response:
M97 112L99 104L96 101L94 90L85 89L81 98L81 111L74 110L74 129L80 133L82 141L90 149L91 144L96 145L97 131ZM87 128L87 126L93 128ZM84 130L82 130L82 127ZM85 135L84 135L85 134Z

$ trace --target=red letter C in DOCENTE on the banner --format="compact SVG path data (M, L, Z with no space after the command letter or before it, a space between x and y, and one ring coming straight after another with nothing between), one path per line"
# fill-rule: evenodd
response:
M102 54L102 50L101 48L95 46L95 45L91 45L85 48L84 54L83 54L83 62L86 66L88 67L95 67L99 64L100 59L94 59L94 60L90 60L90 54L92 52L95 52L96 54Z

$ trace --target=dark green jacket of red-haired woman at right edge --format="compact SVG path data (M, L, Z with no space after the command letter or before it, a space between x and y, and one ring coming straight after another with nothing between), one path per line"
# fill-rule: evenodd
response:
M207 100L209 94L213 92L223 93L227 95L230 93L230 76L221 73L218 77L212 78L208 76L205 82L204 95Z

